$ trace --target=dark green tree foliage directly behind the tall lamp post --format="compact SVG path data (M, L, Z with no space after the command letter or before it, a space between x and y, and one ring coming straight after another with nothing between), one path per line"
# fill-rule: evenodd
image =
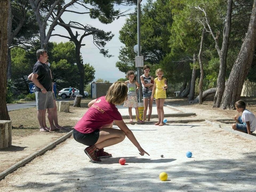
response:
M173 21L171 14L171 1L147 1L141 12L141 55L144 56L144 64L151 66L159 64L166 53L170 52L168 40L170 31L168 27ZM137 11L137 10L136 10ZM133 51L137 44L137 16L130 15L126 23L119 31L119 39L125 44L119 52L119 60L116 67L124 73L135 71Z

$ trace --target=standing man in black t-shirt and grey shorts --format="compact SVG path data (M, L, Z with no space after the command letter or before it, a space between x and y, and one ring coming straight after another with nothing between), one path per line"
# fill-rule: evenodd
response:
M51 71L45 64L48 60L47 51L43 49L37 50L37 62L33 67L33 74L31 80L35 84L35 99L37 103L37 118L40 125L41 132L59 130L53 123L53 95L52 95L52 79ZM43 126L43 118L45 111L48 109L48 120L50 129L47 130Z

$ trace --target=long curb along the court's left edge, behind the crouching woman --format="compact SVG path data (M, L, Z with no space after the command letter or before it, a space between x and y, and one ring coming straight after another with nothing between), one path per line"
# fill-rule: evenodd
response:
M35 153L33 153L32 155L30 155L29 157L26 157L25 159L22 159L21 161L19 161L18 163L14 164L13 166L11 166L10 168L6 169L5 171L3 171L2 173L0 173L0 180L3 179L6 175L8 175L9 173L12 173L13 171L15 171L16 169L18 169L19 167L25 165L26 163L30 162L32 159L34 159L35 157L45 153L46 151L52 149L54 146L58 145L60 142L64 141L65 139L67 139L68 137L70 137L70 135L73 133L72 131L69 131L69 133L66 133L65 135L63 135L62 137L58 138L57 140L55 140L54 142L46 145L45 147L43 147L42 149L36 151Z

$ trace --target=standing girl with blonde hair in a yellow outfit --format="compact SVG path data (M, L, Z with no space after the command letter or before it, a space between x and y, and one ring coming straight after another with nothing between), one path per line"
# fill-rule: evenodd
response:
M165 89L167 89L168 86L167 86L166 78L163 77L162 69L157 69L155 71L155 74L157 75L157 78L154 79L155 83L154 83L151 99L154 100L155 98L155 103L157 104L158 122L155 123L155 125L163 126L164 125L163 118L165 116L163 111L163 103L165 102L165 99L166 99Z

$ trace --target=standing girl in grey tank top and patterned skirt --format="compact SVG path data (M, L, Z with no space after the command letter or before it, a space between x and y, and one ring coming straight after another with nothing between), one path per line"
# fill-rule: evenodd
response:
M125 84L128 87L128 98L124 102L123 106L128 107L128 112L130 116L130 122L133 122L133 114L131 109L135 108L135 113L138 119L139 123L142 123L143 121L139 118L139 109L138 109L138 100L137 100L137 91L139 90L139 83L137 81L134 81L134 72L128 71L126 78L128 78L128 81L125 81ZM137 89L136 89L137 86Z

